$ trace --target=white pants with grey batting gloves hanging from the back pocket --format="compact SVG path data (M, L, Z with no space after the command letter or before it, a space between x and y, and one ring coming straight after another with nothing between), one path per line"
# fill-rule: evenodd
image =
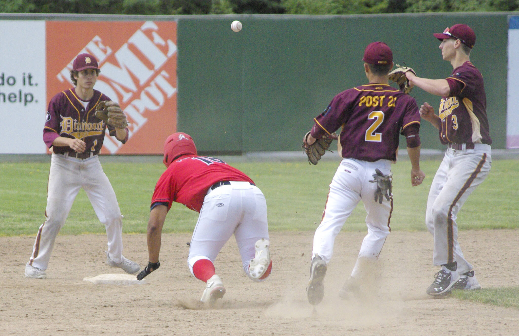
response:
M389 174L391 172L391 161L367 162L357 159L343 159L340 162L330 184L321 223L313 236L312 256L318 254L326 263L329 263L333 255L335 237L353 209L362 200L367 212L367 235L362 241L357 263L351 272L353 277L358 276L361 271L360 259L378 258L390 231L389 219L393 208L393 199L391 195L390 201L384 198L382 204L375 202L377 185L370 180L373 180L376 168L384 174Z

